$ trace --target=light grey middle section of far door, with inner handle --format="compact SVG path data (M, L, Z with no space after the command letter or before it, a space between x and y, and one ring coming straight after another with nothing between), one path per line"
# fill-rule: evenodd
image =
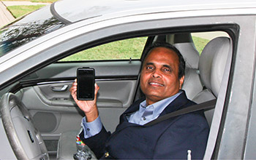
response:
M99 108L127 108L132 101L137 81L97 81L97 84L100 89L97 97ZM56 86L67 86L67 89L55 92L52 88ZM70 82L26 87L23 89L22 100L24 103L28 102L26 106L29 110L72 112L72 108L77 108L77 105L69 93L71 86ZM36 104L30 102L31 98Z

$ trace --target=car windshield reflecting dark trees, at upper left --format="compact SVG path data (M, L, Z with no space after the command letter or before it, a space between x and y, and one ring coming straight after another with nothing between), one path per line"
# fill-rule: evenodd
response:
M0 29L0 57L29 41L64 26L50 13L50 5Z

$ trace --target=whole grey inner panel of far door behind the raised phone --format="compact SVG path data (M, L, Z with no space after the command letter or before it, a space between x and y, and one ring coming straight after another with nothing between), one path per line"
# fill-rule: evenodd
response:
M31 112L34 122L48 145L56 152L62 132L79 130L84 116L75 105L69 89L79 67L95 69L99 85L97 106L105 128L113 132L118 119L132 103L138 83L140 61L113 61L89 63L54 63L26 76L24 87L17 94Z

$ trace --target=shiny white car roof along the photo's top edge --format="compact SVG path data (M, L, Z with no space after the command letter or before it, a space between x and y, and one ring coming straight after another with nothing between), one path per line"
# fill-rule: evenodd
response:
M256 7L255 0L63 0L53 3L51 12L64 23L74 23L103 15L123 17L152 12L252 7Z

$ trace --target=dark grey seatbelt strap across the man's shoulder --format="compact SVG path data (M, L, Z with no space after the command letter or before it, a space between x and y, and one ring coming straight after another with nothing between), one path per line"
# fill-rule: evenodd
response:
M170 118L173 118L175 116L181 116L182 114L191 113L191 112L194 112L194 111L200 111L200 110L208 111L210 109L215 108L216 101L217 101L216 99L215 100L209 100L209 101L206 101L205 103L191 105L187 108L183 108L183 109L180 109L178 111L174 111L172 113L167 113L164 116L159 116L157 119L154 119L153 121L149 121L148 123L144 124L143 126L148 127L148 126L157 124L160 121L165 121L166 119L170 119Z

